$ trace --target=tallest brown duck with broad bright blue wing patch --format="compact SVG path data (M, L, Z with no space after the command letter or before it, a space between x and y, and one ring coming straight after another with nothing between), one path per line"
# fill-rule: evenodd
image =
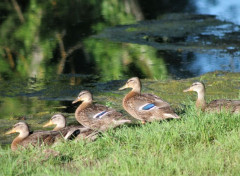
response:
M180 118L170 104L156 95L142 94L141 82L138 77L130 78L119 90L132 88L123 98L123 108L142 123L168 118Z

